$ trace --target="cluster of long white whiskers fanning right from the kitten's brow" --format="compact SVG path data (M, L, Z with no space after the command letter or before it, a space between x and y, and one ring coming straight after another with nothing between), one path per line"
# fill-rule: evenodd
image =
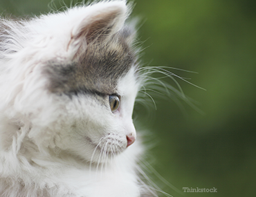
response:
M179 82L175 79L181 79L184 82L187 82L188 84L191 84L193 86L196 86L195 84L192 84L191 82L188 82L187 78L185 77L180 77L179 75L176 75L172 73L171 71L167 71L165 68L169 68L167 66L146 66L143 68L138 68L138 81L140 82L140 91L139 95L136 98L136 102L140 102L143 106L146 106L145 101L146 98L149 97L149 99L153 102L154 108L156 109L156 102L154 101L153 95L155 94L156 96L160 96L162 98L170 98L172 101L175 102L177 106L179 106L179 109L183 112L184 115L186 115L185 108L183 104L181 103L181 100L186 102L192 109L195 111L201 113L202 115L204 114L203 111L201 111L195 104L195 102L190 99L189 97L185 96L185 93L183 92L183 88L181 88L181 85ZM178 71L184 71L187 73L196 73L193 71L186 71L180 68L172 68L170 69L175 69ZM162 77L152 77L151 75L154 73L158 73L163 75ZM171 84L168 84L167 82L164 82L163 78L170 78L176 84L176 88L172 86ZM175 77L175 78L174 78ZM199 86L196 86L197 88L201 88ZM205 90L204 88L201 88ZM150 93L150 94L149 94ZM153 94L154 93L154 94ZM147 97L144 97L144 95L147 95ZM165 95L165 96L163 96ZM146 106L148 108L148 106Z

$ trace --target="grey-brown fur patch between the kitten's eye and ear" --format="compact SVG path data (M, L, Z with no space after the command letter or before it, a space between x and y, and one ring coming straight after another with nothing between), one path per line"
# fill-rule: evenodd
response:
M47 62L44 73L49 79L48 90L67 95L116 93L118 79L136 62L128 37L129 30L123 28L108 41L90 42L71 63Z

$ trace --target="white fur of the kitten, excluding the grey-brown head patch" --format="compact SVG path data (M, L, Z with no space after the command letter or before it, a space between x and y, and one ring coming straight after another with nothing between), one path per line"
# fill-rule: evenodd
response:
M143 148L139 142L126 148L126 135L136 135L134 68L118 82L122 102L116 113L100 108L90 95L71 100L49 93L42 74L51 59L71 61L80 44L71 37L113 10L122 13L114 27L118 31L129 14L126 1L19 23L1 20L8 33L1 35L0 54L0 196L140 196L136 168ZM108 158L93 146L102 146L106 136L119 140L112 147L120 152L116 156Z

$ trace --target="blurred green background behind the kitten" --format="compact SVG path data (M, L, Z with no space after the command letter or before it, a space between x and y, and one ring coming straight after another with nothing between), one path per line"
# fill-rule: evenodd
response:
M39 15L48 12L48 3L0 0L0 11L2 16ZM147 142L154 146L152 166L186 196L255 196L256 1L135 3L133 15L145 21L139 30L143 62L198 72L170 70L207 90L178 80L204 114L185 102L183 113L172 100L157 97L151 115L136 105L137 119L152 131ZM175 86L171 79L166 82ZM161 189L181 196L160 179L154 182ZM214 187L217 193L184 193L183 187Z

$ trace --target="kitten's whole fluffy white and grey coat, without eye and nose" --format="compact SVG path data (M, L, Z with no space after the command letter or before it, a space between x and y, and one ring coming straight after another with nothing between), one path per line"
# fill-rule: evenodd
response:
M153 196L131 119L141 86L126 1L1 19L0 196ZM120 97L111 111L109 95Z

